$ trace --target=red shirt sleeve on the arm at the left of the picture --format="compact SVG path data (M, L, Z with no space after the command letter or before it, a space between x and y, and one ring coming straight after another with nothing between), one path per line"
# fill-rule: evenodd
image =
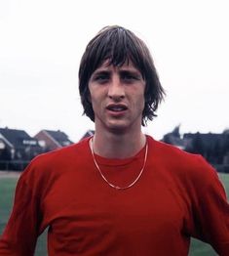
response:
M31 167L21 174L15 193L13 211L0 237L0 255L34 255L41 221L39 197L29 184Z

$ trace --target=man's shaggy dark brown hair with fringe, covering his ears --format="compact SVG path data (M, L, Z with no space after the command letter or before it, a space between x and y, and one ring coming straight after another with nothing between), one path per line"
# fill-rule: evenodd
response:
M79 68L79 91L84 114L95 121L95 113L90 101L89 80L105 61L114 66L122 66L131 61L145 80L145 106L142 125L152 120L164 99L165 91L160 83L151 54L145 43L131 30L113 25L102 28L89 42Z

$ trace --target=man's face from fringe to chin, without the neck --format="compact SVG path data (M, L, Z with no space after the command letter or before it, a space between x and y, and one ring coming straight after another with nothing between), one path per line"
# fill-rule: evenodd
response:
M131 62L122 66L101 64L89 80L89 90L96 130L140 129L145 81Z

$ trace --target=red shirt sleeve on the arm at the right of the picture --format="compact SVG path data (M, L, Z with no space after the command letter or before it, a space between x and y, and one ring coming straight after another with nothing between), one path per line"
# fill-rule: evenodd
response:
M220 256L229 255L229 204L217 172L200 157L202 174L193 203L193 236L210 243Z

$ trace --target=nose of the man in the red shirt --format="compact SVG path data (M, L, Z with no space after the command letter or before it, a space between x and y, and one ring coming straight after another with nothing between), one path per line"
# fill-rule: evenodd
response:
M125 88L119 77L114 77L108 87L108 97L114 101L125 98Z

